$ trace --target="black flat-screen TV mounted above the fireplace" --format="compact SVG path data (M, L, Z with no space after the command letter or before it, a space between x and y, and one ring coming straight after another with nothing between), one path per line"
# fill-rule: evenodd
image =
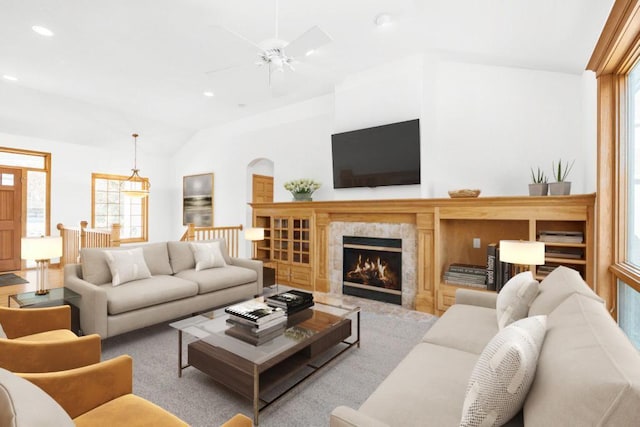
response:
M420 184L420 121L331 135L333 188Z

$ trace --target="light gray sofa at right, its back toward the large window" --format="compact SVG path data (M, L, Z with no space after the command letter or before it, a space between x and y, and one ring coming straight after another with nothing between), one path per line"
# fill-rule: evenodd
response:
M496 299L458 290L456 304L362 406L336 408L331 426L460 425L469 378L499 329ZM540 283L528 315L541 314L547 332L535 377L508 425L638 425L640 355L577 272L559 267Z

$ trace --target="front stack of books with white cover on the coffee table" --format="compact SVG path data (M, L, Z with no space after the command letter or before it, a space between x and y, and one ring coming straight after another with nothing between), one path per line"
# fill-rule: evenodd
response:
M270 307L264 302L247 301L224 310L231 325L227 335L249 344L260 345L282 335L287 327L287 316L283 309Z

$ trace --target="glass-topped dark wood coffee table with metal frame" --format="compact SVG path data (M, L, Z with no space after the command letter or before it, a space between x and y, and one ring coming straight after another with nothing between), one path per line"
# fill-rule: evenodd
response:
M227 317L222 308L171 323L178 330L178 376L193 366L251 399L256 425L261 410L338 355L360 346L360 308L331 297L316 298L312 308L289 317L282 335L258 346L226 335ZM186 365L183 333L191 337Z

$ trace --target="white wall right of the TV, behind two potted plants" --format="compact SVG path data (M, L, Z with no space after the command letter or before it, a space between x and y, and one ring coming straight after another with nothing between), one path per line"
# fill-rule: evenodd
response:
M592 191L585 182L595 164L585 141L583 90L579 75L439 62L437 96L429 100L436 105L436 141L424 153L436 159L427 173L434 196L457 188L527 194L530 168L550 175L559 158L575 159L572 193Z

